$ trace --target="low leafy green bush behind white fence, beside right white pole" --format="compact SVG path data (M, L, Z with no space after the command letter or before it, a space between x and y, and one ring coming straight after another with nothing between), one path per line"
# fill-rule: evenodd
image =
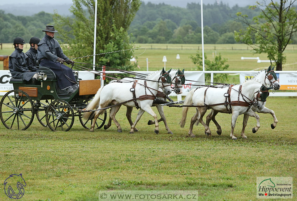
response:
M194 64L197 64L197 70L203 70L203 60L202 60L202 53L200 54L198 51L195 56L189 56L192 59ZM229 68L229 64L225 64L227 61L226 58L222 58L221 54L216 56L213 61L207 59L207 56L204 54L204 68L205 70L209 71L216 71L216 70L226 70ZM207 81L210 81L210 74L205 74L205 78ZM224 73L217 73L213 74L213 81L225 83L228 78L227 74Z

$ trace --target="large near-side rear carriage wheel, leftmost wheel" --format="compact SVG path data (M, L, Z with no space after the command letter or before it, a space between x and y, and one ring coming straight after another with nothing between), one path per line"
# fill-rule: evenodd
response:
M8 129L26 130L34 119L34 105L21 90L7 92L0 101L0 119Z

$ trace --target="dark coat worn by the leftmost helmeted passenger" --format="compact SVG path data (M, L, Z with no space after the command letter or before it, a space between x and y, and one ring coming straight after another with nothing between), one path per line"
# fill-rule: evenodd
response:
M29 81L37 71L36 67L29 66L28 56L19 48L16 48L15 51L11 53L8 64L8 68L13 78L23 78L24 80Z

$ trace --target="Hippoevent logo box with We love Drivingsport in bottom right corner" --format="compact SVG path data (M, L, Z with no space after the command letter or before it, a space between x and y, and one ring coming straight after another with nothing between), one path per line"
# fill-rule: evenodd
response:
M293 198L292 177L257 177L257 198Z

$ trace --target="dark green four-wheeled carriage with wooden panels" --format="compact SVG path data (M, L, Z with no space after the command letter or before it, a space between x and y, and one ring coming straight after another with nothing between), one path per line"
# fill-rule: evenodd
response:
M37 85L28 84L25 80L11 78L14 90L7 92L0 101L0 119L7 129L26 130L37 120L52 131L68 131L75 116L79 117L84 128L90 128L94 115L87 120L81 109L86 108L93 95L100 88L100 80L79 80L78 71L74 70L79 91L72 95L65 94L57 87L57 78L48 67L39 67ZM92 88L90 87L92 86ZM97 121L96 128L105 124L106 113Z

